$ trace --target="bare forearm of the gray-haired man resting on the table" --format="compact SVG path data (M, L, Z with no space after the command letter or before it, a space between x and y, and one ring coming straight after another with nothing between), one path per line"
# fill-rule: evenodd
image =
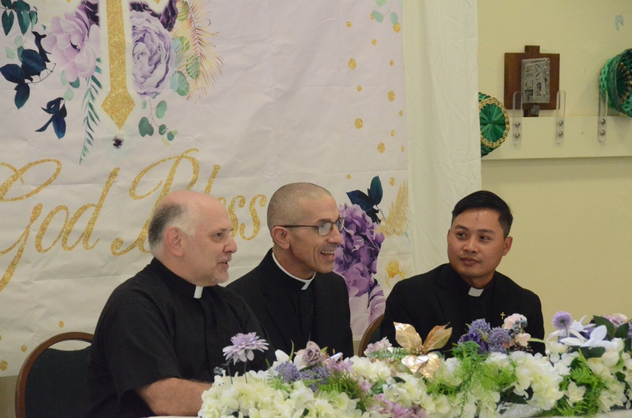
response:
M202 407L202 392L208 389L211 389L210 383L169 377L136 391L154 414L197 417Z

